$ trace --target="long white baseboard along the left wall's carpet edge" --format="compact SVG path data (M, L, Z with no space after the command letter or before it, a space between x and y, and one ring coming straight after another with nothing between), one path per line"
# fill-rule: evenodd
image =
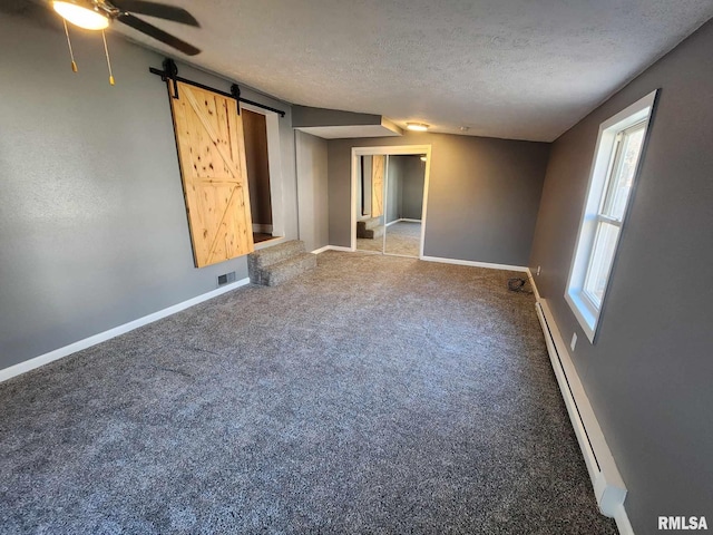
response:
M244 286L246 284L250 284L250 279L241 279L240 281L235 281L231 284L225 284L211 292L203 293L195 298L188 299L187 301L183 301L180 303L174 304L173 307L168 307L167 309L163 309L158 312L154 312L153 314L139 318L138 320L129 321L128 323L115 327L114 329L109 329L108 331L94 334L89 338L85 338L84 340L79 340L77 342L70 343L69 346L65 346L64 348L50 351L49 353L40 354L39 357L35 357L33 359L26 360L9 368L4 368L0 370L0 382L7 381L12 377L17 377L21 373L33 370L55 360L59 360L71 353L76 353L77 351L81 351L82 349L96 346L97 343L106 342L107 340L118 337L119 334L124 334L126 332L133 331L134 329L138 329L139 327L147 325L148 323L153 323L154 321L175 314L176 312L180 312L182 310L202 303L203 301L207 301L208 299L217 298L218 295L222 295L226 292L229 292L231 290L235 290L236 288Z

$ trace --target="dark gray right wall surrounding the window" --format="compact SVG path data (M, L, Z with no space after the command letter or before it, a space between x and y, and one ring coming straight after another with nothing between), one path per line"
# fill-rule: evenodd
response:
M713 519L713 22L553 147L531 268L629 494L636 533L658 515ZM661 88L596 343L564 300L602 121Z

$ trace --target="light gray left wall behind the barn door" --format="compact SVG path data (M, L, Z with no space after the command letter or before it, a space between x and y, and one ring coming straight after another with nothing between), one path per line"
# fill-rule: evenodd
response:
M74 31L72 74L59 20L28 6L31 16L0 14L0 368L208 292L222 273L247 275L244 257L193 265L166 86L148 72L163 57L109 35L110 87L101 39ZM243 94L287 111L283 196L296 237L290 107Z

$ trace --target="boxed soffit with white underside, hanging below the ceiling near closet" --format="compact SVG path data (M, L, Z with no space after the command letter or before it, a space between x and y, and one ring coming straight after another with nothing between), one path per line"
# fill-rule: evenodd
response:
M294 106L292 127L324 139L402 136L403 130L381 115Z

